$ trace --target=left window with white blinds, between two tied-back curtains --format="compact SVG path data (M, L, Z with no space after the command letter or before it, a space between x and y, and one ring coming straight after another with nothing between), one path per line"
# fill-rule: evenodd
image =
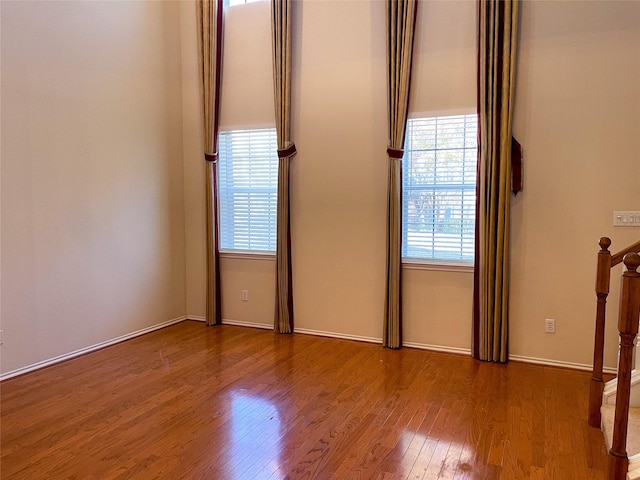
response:
M220 132L221 250L275 251L277 148L275 128Z

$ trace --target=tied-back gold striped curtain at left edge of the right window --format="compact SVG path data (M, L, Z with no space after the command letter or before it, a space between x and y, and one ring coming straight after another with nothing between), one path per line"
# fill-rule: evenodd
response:
M402 346L402 156L409 110L417 0L387 0L389 142L387 282L382 343Z

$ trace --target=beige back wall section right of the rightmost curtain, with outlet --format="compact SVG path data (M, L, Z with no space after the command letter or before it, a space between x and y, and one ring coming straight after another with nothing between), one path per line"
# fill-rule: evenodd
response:
M513 202L511 348L590 363L598 239L613 210L640 209L640 2L525 2L514 131L524 185ZM606 362L616 361L621 268L614 269ZM558 333L543 333L544 318Z

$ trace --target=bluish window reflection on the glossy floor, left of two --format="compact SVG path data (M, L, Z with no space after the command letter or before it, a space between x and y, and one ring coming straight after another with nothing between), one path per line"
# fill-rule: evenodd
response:
M231 392L231 449L233 480L279 480L280 414L267 400L246 391Z

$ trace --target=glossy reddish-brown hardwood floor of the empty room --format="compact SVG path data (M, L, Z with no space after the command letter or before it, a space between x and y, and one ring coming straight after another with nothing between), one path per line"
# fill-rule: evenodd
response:
M604 479L589 374L182 322L1 384L9 479Z

